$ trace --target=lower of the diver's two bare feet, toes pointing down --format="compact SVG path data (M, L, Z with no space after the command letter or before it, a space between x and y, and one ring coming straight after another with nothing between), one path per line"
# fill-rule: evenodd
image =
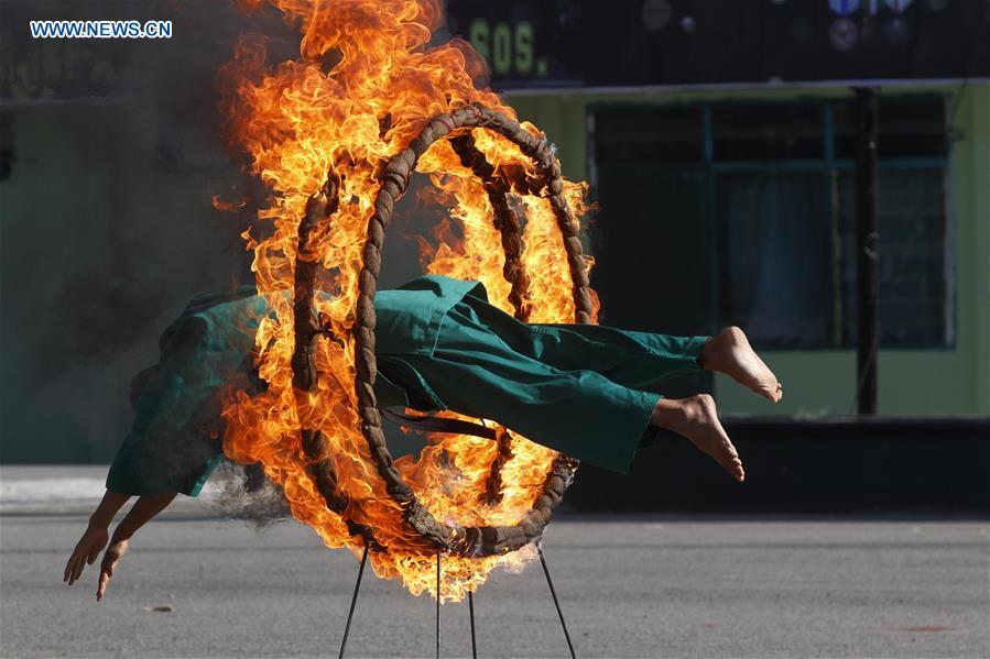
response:
M661 398L651 422L689 439L737 481L746 479L739 453L718 420L715 399L708 394L682 400Z

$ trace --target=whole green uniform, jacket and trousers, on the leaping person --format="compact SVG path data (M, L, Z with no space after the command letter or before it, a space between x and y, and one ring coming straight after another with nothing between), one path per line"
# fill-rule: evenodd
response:
M485 287L428 275L374 298L379 405L491 419L581 461L628 473L663 381L699 369L704 337L527 325ZM197 298L163 334L107 487L199 493L222 459L226 387L260 391L251 349L269 314L252 289Z

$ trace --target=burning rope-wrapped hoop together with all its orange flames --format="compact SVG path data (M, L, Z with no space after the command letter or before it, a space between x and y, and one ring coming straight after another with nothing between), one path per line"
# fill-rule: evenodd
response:
M504 428L496 441L431 433L418 457L392 459L373 391L385 230L424 173L464 229L426 254L429 272L481 281L523 321L595 322L585 186L563 178L543 133L474 87L468 46L424 48L436 2L273 3L302 24L303 59L269 67L247 41L227 72L232 138L274 191L260 212L273 233L244 234L274 318L255 338L268 389L228 402L225 452L261 462L328 547L370 551L380 576L458 601L493 568L536 558L577 461Z

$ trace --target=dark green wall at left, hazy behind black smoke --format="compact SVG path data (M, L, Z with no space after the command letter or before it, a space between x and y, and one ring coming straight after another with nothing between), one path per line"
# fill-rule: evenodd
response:
M10 113L0 462L106 461L159 336L193 296L230 288L247 270L247 221L210 206L240 175L218 140L198 125L172 131L154 106Z

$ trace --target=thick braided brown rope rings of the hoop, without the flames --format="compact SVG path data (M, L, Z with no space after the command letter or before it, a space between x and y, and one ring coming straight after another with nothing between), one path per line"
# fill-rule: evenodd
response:
M497 172L496 167L488 163L483 154L475 146L470 134L475 128L492 130L515 143L525 155L532 158L538 179L535 182L532 179L510 180L503 173ZM385 483L387 492L402 507L409 527L427 541L424 546L457 556L480 557L514 551L538 539L578 463L565 455L558 455L554 460L540 496L536 497L533 507L519 524L465 528L452 527L434 518L416 499L412 488L403 481L399 470L393 465L381 428L381 414L373 388L377 376L374 294L378 289L378 276L381 271L381 251L395 201L409 187L410 176L415 171L420 157L434 142L448 136L461 163L481 179L491 201L494 211L493 221L501 233L502 246L505 250L503 275L512 286L510 301L515 308L516 318L525 320L529 316L525 303L529 279L521 261L522 237L519 218L509 207L507 198L510 190L521 194L545 193L563 235L563 246L573 282L575 321L590 322L592 306L587 267L578 239L579 223L563 195L561 165L545 138L531 134L519 122L498 111L481 105L469 105L434 117L410 143L409 147L392 157L382 168L381 188L374 200L374 213L368 222L352 329L355 387L361 432L368 442L376 469ZM300 227L300 260L297 261L295 290L296 353L293 356L293 372L295 386L301 391L309 391L315 386L314 341L320 333L311 311L313 309L316 262L312 256L305 259L304 250L307 246L308 234L315 224L329 219L336 209L336 194L337 183L331 174L324 188L311 199L306 217ZM305 265L301 266L302 263ZM302 436L306 453L319 454L320 433L304 429ZM499 442L499 451L486 488L487 495L491 499L497 499L497 493L500 490L501 465L505 460L511 459L505 432L500 433ZM327 459L314 464L311 468L311 477L326 501L327 507L344 513L348 502L337 492L333 461ZM373 546L373 529L350 520L348 520L348 527L351 534L362 536Z

